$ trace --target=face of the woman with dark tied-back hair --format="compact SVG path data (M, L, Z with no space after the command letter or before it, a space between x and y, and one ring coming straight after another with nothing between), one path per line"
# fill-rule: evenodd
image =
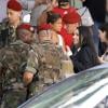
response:
M62 18L58 18L54 24L51 24L51 25L54 31L60 31L62 26L63 26Z

